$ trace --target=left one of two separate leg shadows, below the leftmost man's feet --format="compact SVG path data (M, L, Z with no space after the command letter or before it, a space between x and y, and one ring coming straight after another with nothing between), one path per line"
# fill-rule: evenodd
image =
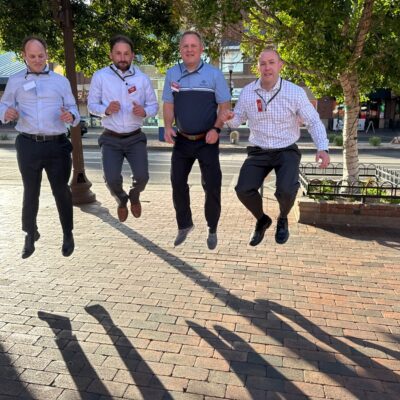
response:
M81 399L95 400L101 395L102 400L112 400L111 393L92 367L77 337L72 333L70 319L43 311L39 311L38 316L49 325L56 336L55 342Z

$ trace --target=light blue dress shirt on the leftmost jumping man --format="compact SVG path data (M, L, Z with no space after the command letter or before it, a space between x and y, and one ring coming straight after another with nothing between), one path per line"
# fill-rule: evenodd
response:
M53 71L34 74L20 71L8 79L0 102L0 119L5 121L9 107L18 111L15 129L35 135L57 135L67 132L60 120L62 108L74 117L73 126L79 124L80 116L75 97L67 78Z

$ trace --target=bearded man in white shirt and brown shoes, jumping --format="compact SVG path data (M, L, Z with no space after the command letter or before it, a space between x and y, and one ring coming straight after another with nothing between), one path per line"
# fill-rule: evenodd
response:
M132 65L133 43L123 35L110 40L112 64L95 72L88 96L89 112L102 118L103 134L99 138L103 173L111 195L117 201L121 222L128 217L127 203L139 218L140 193L149 180L147 139L142 132L143 119L157 114L156 94L147 75ZM124 158L132 171L129 193L123 189L121 175Z

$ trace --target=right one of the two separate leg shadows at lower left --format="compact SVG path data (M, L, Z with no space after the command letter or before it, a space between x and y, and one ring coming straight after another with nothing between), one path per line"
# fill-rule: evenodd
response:
M172 400L157 375L132 346L124 332L114 324L108 311L99 304L87 306L85 310L103 326L107 335L118 338L114 346L140 391L141 399Z

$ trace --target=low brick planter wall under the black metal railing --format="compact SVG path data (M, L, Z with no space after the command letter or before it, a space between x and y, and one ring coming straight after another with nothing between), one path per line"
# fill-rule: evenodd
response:
M298 197L296 220L309 225L351 225L400 229L399 204L362 204Z

